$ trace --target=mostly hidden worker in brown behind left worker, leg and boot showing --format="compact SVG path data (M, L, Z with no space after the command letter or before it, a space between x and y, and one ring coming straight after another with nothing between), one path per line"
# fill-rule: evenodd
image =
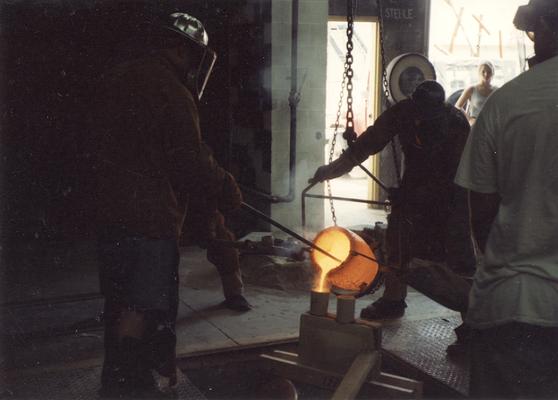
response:
M206 150L210 151L207 147ZM234 234L225 224L225 219L240 207L242 194L235 181L231 179L225 180L223 190L227 201L211 198L204 192L192 196L188 204L181 241L194 242L207 249L207 260L215 265L221 278L225 296L224 306L234 311L244 312L251 310L252 306L243 296L244 284L240 271L239 251L223 243L235 240Z

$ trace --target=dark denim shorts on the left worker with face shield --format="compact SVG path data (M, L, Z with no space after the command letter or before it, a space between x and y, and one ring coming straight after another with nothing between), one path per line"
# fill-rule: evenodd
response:
M98 241L101 293L107 301L139 311L175 311L178 243L138 235Z

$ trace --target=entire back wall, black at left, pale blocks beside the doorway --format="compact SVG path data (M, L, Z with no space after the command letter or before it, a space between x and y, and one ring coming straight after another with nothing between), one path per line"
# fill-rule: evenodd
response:
M386 10L387 60L422 52L428 1L383 1L414 10ZM357 4L361 15L375 15L374 1ZM149 13L189 11L204 21L219 57L200 104L205 139L246 189L247 202L299 228L300 193L325 162L327 19L344 15L346 2L299 0L294 200L272 205L256 193L288 192L291 9L291 0L1 2L2 284L17 287L95 262L83 158L88 100L115 44L136 35ZM323 207L313 204L309 223L320 229ZM269 229L242 213L231 225L238 235Z

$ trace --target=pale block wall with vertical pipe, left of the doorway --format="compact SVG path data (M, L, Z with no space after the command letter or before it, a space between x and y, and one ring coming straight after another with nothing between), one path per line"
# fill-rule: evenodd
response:
M291 0L274 0L272 8L272 191L278 194L288 192L292 3ZM327 2L299 0L298 3L297 74L301 96L297 110L295 198L272 208L273 218L293 228L301 225L300 194L316 168L324 163L328 18ZM321 228L322 221L322 207L308 209L310 229Z

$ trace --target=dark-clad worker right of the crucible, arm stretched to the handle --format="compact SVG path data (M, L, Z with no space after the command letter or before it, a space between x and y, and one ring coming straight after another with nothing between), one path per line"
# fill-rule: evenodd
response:
M337 160L318 168L311 182L342 176L399 136L405 156L401 184L389 193L387 264L405 270L412 258L443 262L447 222L457 186L453 178L469 133L461 111L445 103L435 81L424 81L411 98L395 104ZM361 318L397 318L404 314L407 286L396 273L385 274L383 296L364 308Z

